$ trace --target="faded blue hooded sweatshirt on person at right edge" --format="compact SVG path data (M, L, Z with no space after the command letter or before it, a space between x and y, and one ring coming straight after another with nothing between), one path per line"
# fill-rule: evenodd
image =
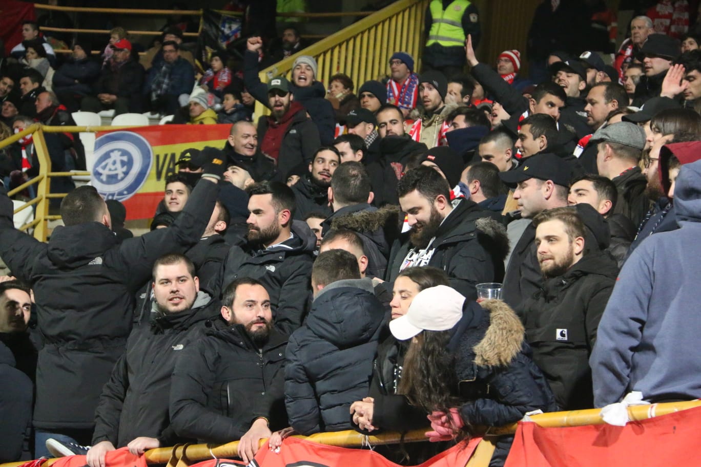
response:
M674 188L679 230L648 237L621 270L590 365L594 405L629 391L646 400L701 397L701 162L683 165Z

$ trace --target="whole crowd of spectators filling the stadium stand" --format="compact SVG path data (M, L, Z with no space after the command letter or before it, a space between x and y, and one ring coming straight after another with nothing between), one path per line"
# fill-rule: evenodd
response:
M116 28L99 61L81 41L61 61L25 22L1 139L79 109L231 131L180 155L139 237L69 179L48 242L15 230L6 192L39 162L31 137L0 150L0 461L240 439L247 462L292 433L449 442L631 391L700 398L701 39L663 10L611 54L557 50L539 8L529 80L519 50L477 60L475 6L433 0L424 69L396 51L357 91L308 55L261 83L295 26L198 74L177 27L140 59ZM76 134L44 136L54 170L85 168Z

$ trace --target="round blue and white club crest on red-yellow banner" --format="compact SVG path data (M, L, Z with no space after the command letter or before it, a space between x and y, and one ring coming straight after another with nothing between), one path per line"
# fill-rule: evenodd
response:
M154 153L149 141L132 132L111 132L95 140L90 179L105 200L128 200L151 172Z

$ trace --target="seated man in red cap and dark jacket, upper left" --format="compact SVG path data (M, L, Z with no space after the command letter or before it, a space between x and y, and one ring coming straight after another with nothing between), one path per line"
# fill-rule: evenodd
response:
M114 109L114 115L142 111L144 67L131 59L131 43L120 39L110 46L114 54L97 78L97 95L86 96L81 110L100 112Z

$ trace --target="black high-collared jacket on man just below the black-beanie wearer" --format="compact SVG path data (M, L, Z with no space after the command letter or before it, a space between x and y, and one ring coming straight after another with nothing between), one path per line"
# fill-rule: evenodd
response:
M380 139L380 158L369 164L367 171L377 206L399 204L397 181L402 178L410 156L427 149L426 144L414 141L407 134Z

